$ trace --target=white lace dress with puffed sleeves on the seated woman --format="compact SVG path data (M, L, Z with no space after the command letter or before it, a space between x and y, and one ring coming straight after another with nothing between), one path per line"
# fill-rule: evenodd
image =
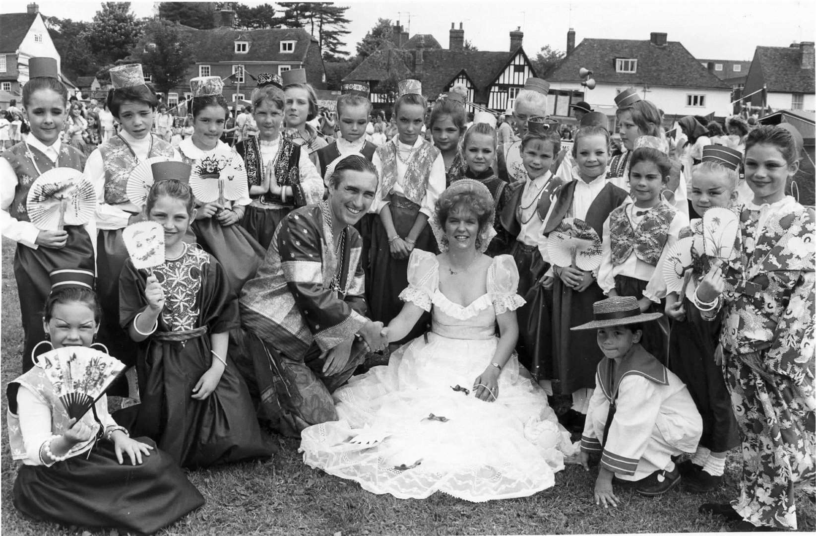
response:
M302 432L304 462L397 498L442 491L481 502L551 487L564 456L574 454L570 435L516 355L499 376L498 401L472 393L494 360L496 315L524 303L512 257L493 259L486 294L467 307L439 290L435 255L414 250L408 281L400 297L432 310L432 332L334 393L339 420ZM381 441L350 441L364 428Z

